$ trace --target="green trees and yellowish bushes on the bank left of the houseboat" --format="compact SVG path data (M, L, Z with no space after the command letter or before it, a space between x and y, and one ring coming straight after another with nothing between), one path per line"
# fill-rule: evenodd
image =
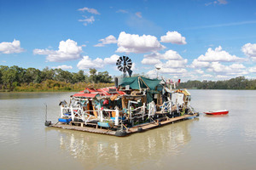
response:
M86 87L103 88L113 86L108 71L97 72L90 69L90 76L84 71L78 73L61 69L24 69L17 65L0 65L0 91L79 91Z

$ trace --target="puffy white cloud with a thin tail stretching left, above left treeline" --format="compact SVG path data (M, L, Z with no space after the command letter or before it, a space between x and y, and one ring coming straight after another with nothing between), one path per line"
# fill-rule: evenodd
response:
M33 54L47 55L46 59L50 62L62 62L81 58L82 47L71 39L61 41L59 50L34 49Z

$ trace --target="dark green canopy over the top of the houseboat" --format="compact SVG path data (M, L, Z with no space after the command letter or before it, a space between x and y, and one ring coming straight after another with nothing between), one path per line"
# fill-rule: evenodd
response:
M146 77L124 77L119 86L130 86L131 89L149 88L156 90L156 87L160 84L161 80L150 79Z

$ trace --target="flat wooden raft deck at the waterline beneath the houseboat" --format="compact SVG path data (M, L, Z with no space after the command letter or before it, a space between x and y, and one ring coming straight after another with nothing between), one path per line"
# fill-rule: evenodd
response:
M114 136L126 136L131 133L140 133L150 128L160 127L161 125L166 125L173 122L183 121L189 118L194 118L195 116L198 116L198 114L196 113L194 115L176 116L173 118L166 117L166 120L164 121L143 123L134 127L126 128L123 131L112 130L114 129L114 127L109 129L101 128L101 127L98 127L97 124L95 123L87 123L87 125L94 126L94 127L88 127L88 126L84 126L84 122L70 122L69 124L63 124L61 122L57 122L56 124L50 124L49 127L58 127L63 129L77 130L77 131L83 131L83 132L89 132L89 133L102 133L102 134L109 134ZM75 125L78 125L78 126L75 126Z

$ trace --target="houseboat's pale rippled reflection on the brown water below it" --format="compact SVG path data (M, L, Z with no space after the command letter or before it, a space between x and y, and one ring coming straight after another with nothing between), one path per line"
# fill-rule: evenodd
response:
M178 154L179 148L191 139L189 127L193 122L177 122L125 138L58 129L60 148L79 159L84 167L95 168L106 163L122 168L130 163L158 159L163 154ZM51 130L56 129L46 128L46 132Z

